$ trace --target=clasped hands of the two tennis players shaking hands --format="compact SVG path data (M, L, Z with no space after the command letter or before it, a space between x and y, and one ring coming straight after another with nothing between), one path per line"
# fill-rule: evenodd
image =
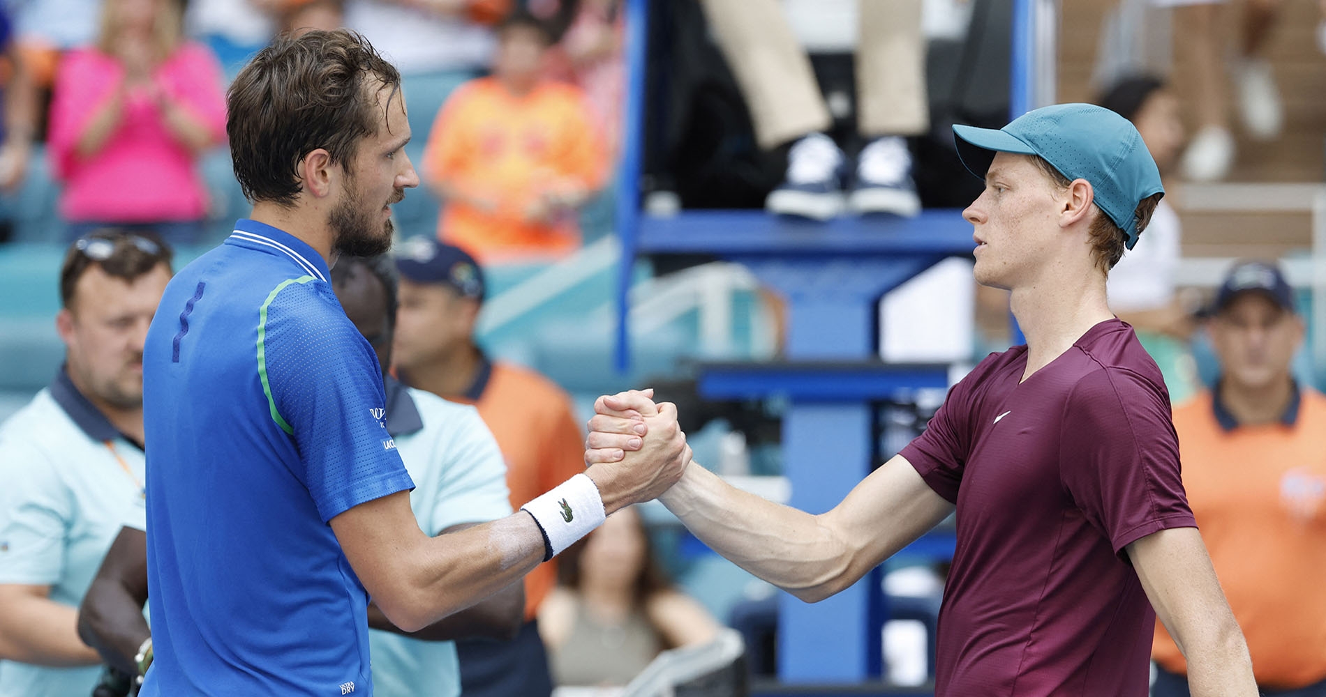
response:
M676 405L655 404L652 398L654 390L630 390L594 402L585 439L586 474L607 513L658 498L691 464Z

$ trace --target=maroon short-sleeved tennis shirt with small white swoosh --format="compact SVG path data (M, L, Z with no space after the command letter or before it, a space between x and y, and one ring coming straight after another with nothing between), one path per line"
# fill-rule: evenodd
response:
M1025 346L991 354L902 452L957 506L936 696L1144 697L1155 612L1124 547L1196 527L1170 394L1118 319L1025 370Z

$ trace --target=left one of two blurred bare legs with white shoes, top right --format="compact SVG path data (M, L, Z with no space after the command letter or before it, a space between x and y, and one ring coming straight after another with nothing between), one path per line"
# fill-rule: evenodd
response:
M1175 8L1175 28L1184 29L1184 58L1192 68L1197 117L1197 131L1184 152L1183 171L1188 179L1199 182L1224 179L1235 156L1219 19L1220 3Z

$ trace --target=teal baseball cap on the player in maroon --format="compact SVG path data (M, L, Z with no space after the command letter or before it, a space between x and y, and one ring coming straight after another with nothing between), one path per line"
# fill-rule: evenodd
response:
M1103 106L1042 106L998 130L953 126L953 136L957 156L979 179L985 179L996 152L1040 155L1063 176L1086 179L1097 207L1127 235L1128 249L1138 244L1138 204L1164 193L1138 129Z

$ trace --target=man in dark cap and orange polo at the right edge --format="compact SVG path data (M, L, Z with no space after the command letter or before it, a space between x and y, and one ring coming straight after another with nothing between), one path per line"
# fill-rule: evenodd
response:
M1326 696L1326 398L1298 384L1303 321L1280 268L1236 265L1208 326L1220 382L1174 409L1188 504L1262 694ZM1187 697L1156 627L1155 697Z

